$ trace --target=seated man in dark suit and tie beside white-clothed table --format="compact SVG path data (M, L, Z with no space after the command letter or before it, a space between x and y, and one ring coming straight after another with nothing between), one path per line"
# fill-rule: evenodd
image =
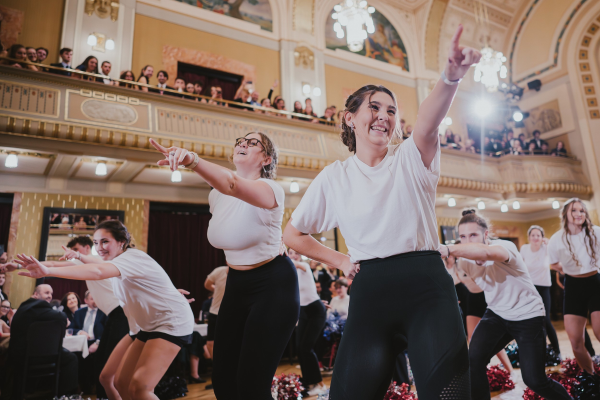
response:
M98 383L101 372L97 368L96 350L98 350L108 317L98 308L89 290L85 292L84 301L88 306L75 311L73 317L73 335L84 335L88 338L89 356L84 359L77 353L79 386L84 393L92 393L92 386Z

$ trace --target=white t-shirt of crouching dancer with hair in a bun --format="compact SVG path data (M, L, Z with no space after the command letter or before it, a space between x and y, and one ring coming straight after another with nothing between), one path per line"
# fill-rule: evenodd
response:
M508 261L487 261L482 266L464 258L459 261L461 269L484 290L488 308L508 321L546 315L542 297L533 285L515 243L498 239L491 240L490 245L505 248Z

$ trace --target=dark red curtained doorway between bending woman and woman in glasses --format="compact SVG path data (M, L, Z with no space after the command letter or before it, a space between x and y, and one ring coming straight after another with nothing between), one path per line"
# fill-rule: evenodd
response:
M148 223L148 254L160 264L178 289L189 291L198 318L208 298L206 276L226 265L225 253L208 242L211 219L208 205L151 201Z

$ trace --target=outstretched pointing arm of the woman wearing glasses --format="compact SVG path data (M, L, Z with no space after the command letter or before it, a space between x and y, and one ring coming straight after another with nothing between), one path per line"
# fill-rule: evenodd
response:
M150 143L165 157L164 160L158 161L159 166L170 166L171 170L175 171L179 166L187 166L194 161L194 155L186 149L175 146L167 149L154 139L150 139ZM260 208L273 209L278 206L275 193L266 182L241 178L232 170L202 160L202 158L199 159L198 165L193 168L193 171L202 176L202 179L211 187L227 196L237 197Z

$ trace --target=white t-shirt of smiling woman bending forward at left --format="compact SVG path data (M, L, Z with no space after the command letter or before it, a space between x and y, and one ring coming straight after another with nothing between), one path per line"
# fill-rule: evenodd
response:
M194 314L190 304L152 257L138 249L127 249L108 262L121 272L112 278L116 297L143 331L191 335Z

